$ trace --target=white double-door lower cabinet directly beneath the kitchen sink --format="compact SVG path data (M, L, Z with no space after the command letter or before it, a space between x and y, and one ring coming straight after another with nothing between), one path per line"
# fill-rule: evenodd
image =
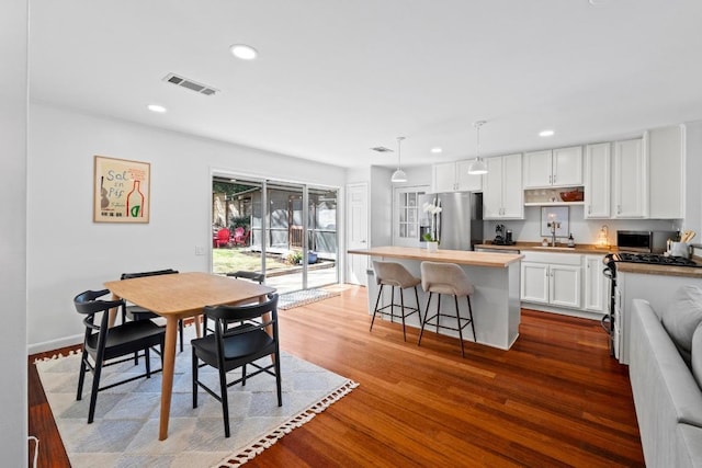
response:
M582 255L523 252L521 299L525 303L579 309Z

